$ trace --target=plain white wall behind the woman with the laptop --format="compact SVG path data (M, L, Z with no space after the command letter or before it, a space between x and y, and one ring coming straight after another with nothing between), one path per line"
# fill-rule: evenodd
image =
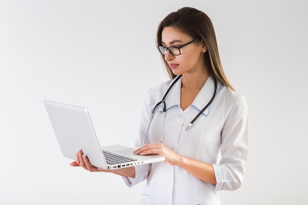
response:
M133 146L145 93L168 79L157 25L183 6L212 19L249 107L246 177L222 204L308 204L307 1L1 0L1 205L138 204L142 184L69 166L43 100L87 107L100 142Z

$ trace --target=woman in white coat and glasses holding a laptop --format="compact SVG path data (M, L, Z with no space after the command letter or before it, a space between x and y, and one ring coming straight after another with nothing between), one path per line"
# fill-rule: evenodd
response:
M107 171L79 150L71 166L123 176L129 187L147 180L141 205L220 205L217 191L238 189L244 178L246 100L223 72L214 27L202 11L170 13L156 41L172 80L149 90L135 154L165 161Z

